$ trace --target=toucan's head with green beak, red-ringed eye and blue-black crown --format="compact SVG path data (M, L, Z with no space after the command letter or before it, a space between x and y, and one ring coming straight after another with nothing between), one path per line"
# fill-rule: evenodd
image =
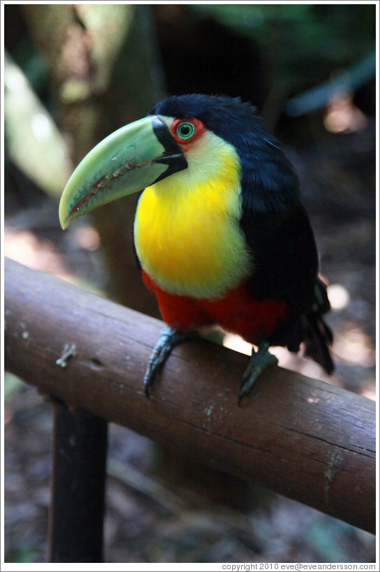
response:
M296 195L290 163L251 105L226 96L170 96L84 157L61 196L61 226L181 171L217 176L225 157L238 171L243 206L266 210Z

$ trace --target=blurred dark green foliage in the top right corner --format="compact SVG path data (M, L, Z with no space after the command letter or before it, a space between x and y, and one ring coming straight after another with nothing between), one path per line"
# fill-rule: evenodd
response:
M273 83L297 94L374 50L375 6L333 4L199 4L198 13L254 40Z

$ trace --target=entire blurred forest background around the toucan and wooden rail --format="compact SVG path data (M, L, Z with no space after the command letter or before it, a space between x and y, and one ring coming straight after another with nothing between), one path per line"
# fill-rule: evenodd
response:
M3 8L7 256L157 316L131 247L136 198L106 205L63 233L61 190L96 142L146 115L163 96L195 91L241 96L257 106L296 166L322 267L334 283L329 294L337 376L326 381L373 398L374 3ZM309 362L278 356L285 367L320 375ZM7 374L5 381L8 562L43 562L50 415L20 380ZM36 439L28 437L31 425ZM126 430L112 428L111 454L126 463L126 474L131 463L144 472L157 471L160 464L166 465L169 482L189 480L187 465L179 469L164 452L158 463L157 450L152 455L149 447L131 432L126 439ZM154 490L153 505L151 498L141 504L138 484L121 491L116 479L106 522L114 562L371 562L374 557L370 535L252 492L240 481L196 472L204 481L202 492L215 502L234 511L243 506L245 516L254 506L249 526L245 520L236 527L221 527L220 521L216 526L202 503L197 513L189 512L193 501L186 518L171 515L168 522ZM199 478L195 483L199 493Z

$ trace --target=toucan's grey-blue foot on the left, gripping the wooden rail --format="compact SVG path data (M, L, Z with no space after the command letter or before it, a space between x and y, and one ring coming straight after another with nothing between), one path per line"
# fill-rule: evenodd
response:
M149 397L149 388L154 381L155 374L165 362L174 346L178 346L178 344L182 344L182 342L186 342L188 339L194 339L195 337L199 337L195 331L177 332L169 327L161 331L158 342L155 344L153 353L149 358L148 368L144 376L144 391L146 397Z

